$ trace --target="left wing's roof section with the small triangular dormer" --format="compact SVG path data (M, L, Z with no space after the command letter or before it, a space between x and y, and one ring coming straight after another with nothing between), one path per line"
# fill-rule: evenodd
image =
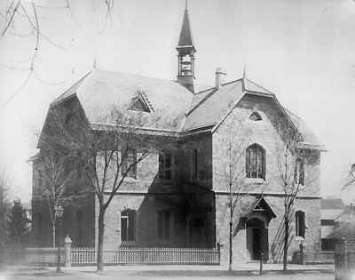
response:
M132 99L139 96L150 109L154 108L159 114L161 112L167 120L174 120L169 127L162 128L177 131L182 129L186 108L193 97L191 92L175 81L99 69L93 69L51 105L75 95L91 124L103 124L107 112L114 106L128 109ZM146 114L149 116L149 113Z

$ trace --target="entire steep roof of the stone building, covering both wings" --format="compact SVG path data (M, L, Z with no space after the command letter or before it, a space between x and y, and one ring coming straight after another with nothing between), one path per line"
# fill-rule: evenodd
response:
M93 69L54 100L51 106L76 96L91 124L98 125L105 123L104 115L112 108L129 109L134 101L140 100L139 105L146 108L142 111L158 112L165 119L174 120L168 127L155 128L174 132L191 132L201 128L214 131L245 94L272 99L304 137L304 148L326 149L302 119L281 107L272 92L245 76L221 84L219 88L212 87L193 94L175 81ZM149 117L149 113L145 114Z

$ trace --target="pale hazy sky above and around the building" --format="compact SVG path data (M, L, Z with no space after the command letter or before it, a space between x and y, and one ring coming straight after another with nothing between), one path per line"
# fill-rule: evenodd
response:
M185 0L114 0L106 20L103 0L69 1L70 9L61 8L64 0L34 2L43 36L28 82L28 71L20 68L31 62L36 36L16 36L9 28L0 38L0 161L23 201L31 196L27 160L37 152L34 130L41 131L51 101L94 63L176 80L175 47L185 10ZM197 84L214 85L216 68L226 69L227 82L241 78L245 68L248 79L275 93L326 145L321 196L355 199L340 192L355 163L355 2L189 0L188 11ZM31 32L23 18L15 23L17 32Z

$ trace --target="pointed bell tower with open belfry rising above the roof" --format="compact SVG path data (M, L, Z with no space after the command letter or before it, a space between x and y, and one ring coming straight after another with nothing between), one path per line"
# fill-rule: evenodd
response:
M177 82L184 85L190 92L195 92L194 85L194 53L193 33L185 3L183 26L177 44Z

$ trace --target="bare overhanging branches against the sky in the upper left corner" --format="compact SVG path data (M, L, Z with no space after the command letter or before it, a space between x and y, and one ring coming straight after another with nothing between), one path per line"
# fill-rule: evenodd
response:
M93 10L95 11L94 1L92 1L92 3L88 2L88 4L92 4ZM111 20L111 10L114 7L114 0L99 0L99 4L104 4L106 6L103 30L106 27L107 20ZM38 71L36 71L39 62L41 62L41 60L43 61L43 58L40 56L40 52L44 49L43 43L49 43L56 49L66 51L67 47L63 47L63 45L70 45L70 42L69 40L66 43L55 42L51 35L43 32L43 26L48 24L48 19L46 18L46 12L48 11L55 11L59 15L61 13L61 17L59 16L57 18L61 20L67 20L67 15L69 15L73 20L73 23L81 28L80 24L75 20L75 13L72 11L70 0L60 0L52 3L48 1L41 3L41 1L33 0L5 0L0 4L0 40L4 40L6 36L11 36L13 41L14 39L26 39L33 44L32 48L28 48L33 50L32 52L28 52L28 58L19 59L13 57L9 58L8 61L0 62L0 65L3 67L21 73L27 73L27 77L25 78L24 83L20 85L19 90L14 92L12 96L1 105L0 109L3 108L8 101L12 100L12 98L18 94L26 84L28 84L31 77L36 77L37 80L45 84L51 84L49 81L45 81L41 78ZM71 74L73 73L74 68ZM66 81L62 81L59 84L64 84Z

